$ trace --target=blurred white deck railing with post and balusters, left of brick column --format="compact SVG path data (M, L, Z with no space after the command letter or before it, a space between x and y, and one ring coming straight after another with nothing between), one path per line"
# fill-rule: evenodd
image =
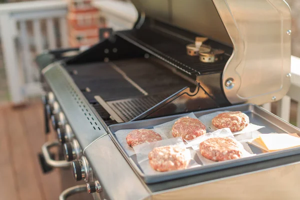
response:
M66 2L63 0L0 4L0 40L13 103L21 103L27 96L41 91L34 62L36 54L44 49L67 47L66 12ZM58 28L54 20L58 21ZM42 22L46 26L45 32ZM28 24L32 24L30 29ZM59 46L56 42L57 29L60 32Z

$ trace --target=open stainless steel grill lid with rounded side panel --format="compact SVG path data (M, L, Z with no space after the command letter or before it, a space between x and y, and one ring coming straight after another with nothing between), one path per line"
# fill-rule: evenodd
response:
M221 79L230 103L262 104L286 94L290 84L286 74L290 72L291 17L284 0L132 0L132 3L140 13L137 24L149 17L233 47ZM204 61L209 60L204 58ZM234 81L234 87L225 87L228 79Z

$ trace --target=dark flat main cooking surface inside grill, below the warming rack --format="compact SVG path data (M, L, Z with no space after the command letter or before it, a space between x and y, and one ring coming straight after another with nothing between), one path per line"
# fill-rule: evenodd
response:
M126 75L149 95L158 93L174 93L192 83L172 73L164 66L146 58L132 58L113 61ZM117 100L143 96L136 87L129 83L108 62L95 62L79 65L68 65L76 85L86 99L94 102L94 96L99 95L103 100ZM72 73L76 70L76 73ZM85 88L90 89L89 92Z

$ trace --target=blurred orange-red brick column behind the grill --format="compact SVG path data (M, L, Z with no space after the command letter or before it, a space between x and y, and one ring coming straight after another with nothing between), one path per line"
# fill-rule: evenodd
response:
M91 5L91 0L69 0L67 23L71 47L97 43L99 28L105 27L104 17Z

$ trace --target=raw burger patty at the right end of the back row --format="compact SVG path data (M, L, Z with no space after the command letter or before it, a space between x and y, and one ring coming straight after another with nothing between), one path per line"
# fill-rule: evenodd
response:
M249 117L241 111L223 112L211 120L216 128L230 128L232 132L244 129L249 124Z

